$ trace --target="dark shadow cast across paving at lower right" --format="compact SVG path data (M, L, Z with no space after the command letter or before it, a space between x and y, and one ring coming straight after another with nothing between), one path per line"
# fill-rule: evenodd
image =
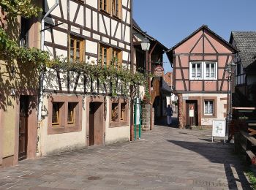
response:
M243 189L251 189L249 182L244 175L243 168L240 166L241 164L236 158L229 159L230 153L227 153L227 151L230 151L230 149L227 149L225 147L226 145L208 142L185 142L178 140L167 141L182 148L186 148L189 151L199 153L201 156L204 156L206 159L213 163L224 164L229 189L238 189L236 181L239 181L241 183ZM232 167L236 169L236 176L238 177L235 177Z

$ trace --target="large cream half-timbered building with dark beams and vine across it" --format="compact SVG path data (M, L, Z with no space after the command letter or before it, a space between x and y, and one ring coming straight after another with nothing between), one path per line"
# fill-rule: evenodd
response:
M44 12L54 3L45 0ZM129 72L131 25L131 0L59 0L45 19L44 50L71 64L108 66L115 57ZM110 83L79 72L48 69L39 135L42 155L129 140L129 99L112 98L111 86L105 85Z

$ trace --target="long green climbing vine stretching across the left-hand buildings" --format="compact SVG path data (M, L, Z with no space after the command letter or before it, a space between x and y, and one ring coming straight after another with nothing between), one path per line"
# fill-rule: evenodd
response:
M21 15L25 18L37 16L42 9L34 6L31 0L1 0L0 7L8 15L15 17ZM128 68L117 66L117 58L113 58L109 66L102 66L97 63L75 61L70 63L67 58L50 58L49 53L37 48L19 47L7 35L4 28L0 27L0 59L12 63L18 61L19 64L33 66L38 72L45 72L46 68L52 68L61 72L77 72L80 75L91 77L92 80L99 80L99 83L111 83L112 96L117 96L117 87L122 86L123 96L135 96L138 88L129 94L129 86L144 86L146 97L148 94L148 82L146 77L140 73L132 73ZM99 63L100 61L98 61Z

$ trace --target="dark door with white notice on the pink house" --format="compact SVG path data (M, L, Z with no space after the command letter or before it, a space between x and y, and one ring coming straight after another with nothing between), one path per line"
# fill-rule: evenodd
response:
M197 126L197 101L186 101L186 126Z

